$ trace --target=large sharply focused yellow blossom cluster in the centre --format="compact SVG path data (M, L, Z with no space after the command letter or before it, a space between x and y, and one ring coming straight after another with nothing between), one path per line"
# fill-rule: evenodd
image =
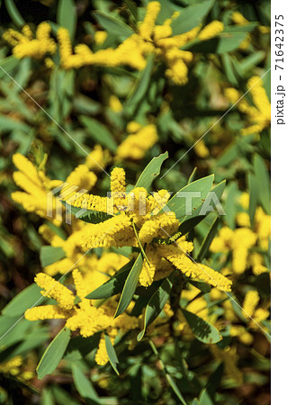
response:
M223 291L230 291L228 278L210 267L195 263L189 254L193 243L185 237L171 239L179 229L179 221L172 211L160 211L168 201L169 193L160 190L148 195L143 187L126 193L125 172L119 167L112 170L112 197L81 195L72 204L76 207L93 207L94 211L113 214L112 218L85 226L82 247L142 247L146 246L146 258L139 276L139 283L150 285L158 276L162 278L177 268L185 275L199 278ZM167 245L161 239L170 239Z

